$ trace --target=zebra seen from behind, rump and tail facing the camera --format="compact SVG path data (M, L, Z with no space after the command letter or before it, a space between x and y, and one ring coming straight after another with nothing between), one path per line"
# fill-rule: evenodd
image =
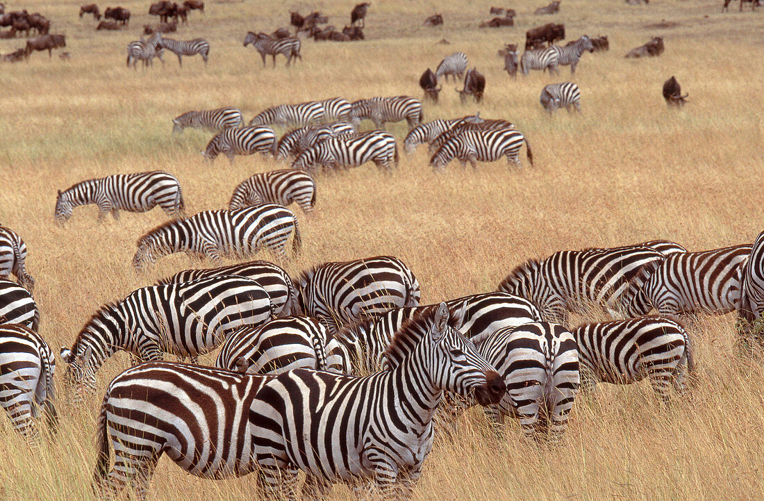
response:
M475 344L507 385L501 402L485 409L497 431L512 416L526 436L552 442L562 438L581 379L573 334L540 322L503 327Z

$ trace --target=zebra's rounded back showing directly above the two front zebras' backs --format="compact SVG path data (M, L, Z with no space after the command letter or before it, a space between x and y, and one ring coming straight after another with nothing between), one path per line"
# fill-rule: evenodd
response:
M339 344L319 320L310 317L283 317L261 327L239 327L221 346L215 367L250 374L303 368L350 372Z

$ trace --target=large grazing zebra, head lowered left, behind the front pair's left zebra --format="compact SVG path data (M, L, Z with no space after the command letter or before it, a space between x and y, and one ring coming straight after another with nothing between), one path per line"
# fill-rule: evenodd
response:
M138 359L172 353L196 361L241 325L261 325L274 315L268 293L245 277L199 278L181 284L149 285L99 308L71 348L61 348L64 380L76 398L95 390L95 372L125 350Z

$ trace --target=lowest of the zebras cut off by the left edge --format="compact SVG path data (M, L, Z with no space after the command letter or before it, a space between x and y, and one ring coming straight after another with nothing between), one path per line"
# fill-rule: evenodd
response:
M43 409L48 429L56 431L56 359L39 334L22 325L0 325L0 405L16 431L32 444L39 432L32 418Z

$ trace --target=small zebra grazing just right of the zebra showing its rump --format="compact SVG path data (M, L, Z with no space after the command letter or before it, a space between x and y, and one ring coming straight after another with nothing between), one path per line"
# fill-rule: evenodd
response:
M685 389L685 372L693 360L687 332L673 320L638 317L602 324L584 324L571 331L578 343L581 389L596 382L630 384L648 378L663 399L669 386Z

